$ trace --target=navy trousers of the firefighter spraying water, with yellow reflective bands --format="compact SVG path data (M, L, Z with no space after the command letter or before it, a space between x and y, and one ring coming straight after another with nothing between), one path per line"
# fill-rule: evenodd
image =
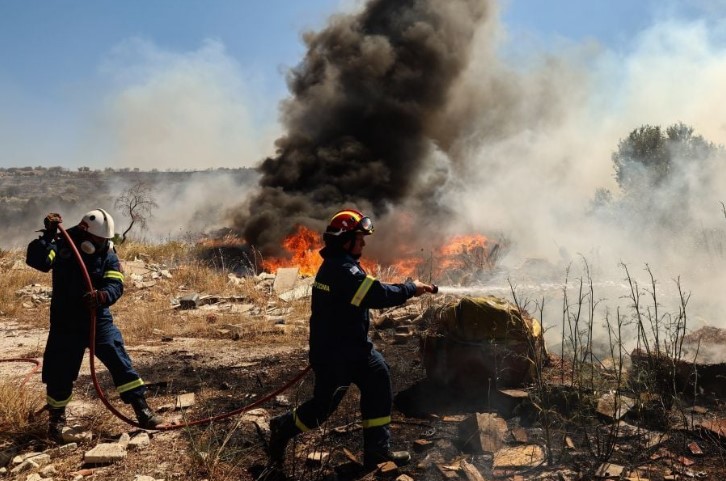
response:
M387 450L390 446L393 392L388 365L375 349L368 359L315 363L313 397L295 409L300 431L318 427L335 411L351 384L360 390L360 411L365 451Z

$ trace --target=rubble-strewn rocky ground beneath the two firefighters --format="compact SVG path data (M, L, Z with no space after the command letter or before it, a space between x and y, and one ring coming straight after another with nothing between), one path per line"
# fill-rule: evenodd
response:
M618 403L612 406L607 395L614 393L573 386L563 374L569 366L552 354L543 382L518 390L487 385L462 391L429 382L419 352L427 324L418 314L432 302L438 301L414 300L405 312L379 314L373 331L393 376L394 448L410 451L411 463L362 469L359 395L353 387L323 428L291 444L288 479L726 479L726 410L713 393L684 395L656 415L641 409L644 404L629 404L628 392L611 398ZM29 318L46 313L47 308L32 307L0 317L2 358L42 356L46 331L29 327L37 325ZM267 337L252 341L220 326L215 337L159 333L129 343L149 384L150 404L173 424L173 429L148 431L148 443L143 431L113 417L98 400L86 359L69 407L69 424L85 434L59 449L45 438L46 415L40 414L19 432L0 437L0 479L257 479L266 462L270 416L306 399L312 389L313 376L307 373L274 394L307 366L304 336L280 328L297 329L300 321L283 316ZM33 366L3 362L0 375L6 383L17 382L19 392L37 393L31 396L42 404L40 375L24 381ZM130 416L104 368L98 371L109 401ZM612 371L602 367L598 375ZM243 414L185 426L253 403L259 405ZM112 454L94 457L94 448L105 444L115 446ZM26 459L30 455L35 458Z

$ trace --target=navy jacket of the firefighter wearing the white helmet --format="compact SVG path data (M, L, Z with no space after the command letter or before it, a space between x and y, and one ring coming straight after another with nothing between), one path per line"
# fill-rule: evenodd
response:
M82 241L82 232L77 227L68 229L76 248ZM80 251L80 249L79 249ZM98 249L93 254L80 251L93 288L103 290L108 302L96 309L97 322L112 322L108 306L114 304L123 294L124 275L121 262L113 249ZM65 237L56 240L40 237L28 244L25 262L42 272L53 270L53 295L50 302L51 325L86 328L90 321L83 295L88 292L83 272L76 256Z

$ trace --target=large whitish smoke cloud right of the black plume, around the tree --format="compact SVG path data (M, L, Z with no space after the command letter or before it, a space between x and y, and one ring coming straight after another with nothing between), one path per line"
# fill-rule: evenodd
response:
M620 196L611 156L640 126L682 122L708 141L725 143L726 111L718 106L726 100L726 45L719 28L661 17L627 51L587 43L532 53L517 52L517 39L507 38L503 25L482 26L475 60L449 112L469 117L452 149L457 175L442 199L461 218L452 232L504 233L513 240L506 267L543 259L563 279L565 266L574 261L580 272L578 259L585 258L600 276L596 281L620 285L622 262L646 286L647 264L671 312L677 311L674 280L680 279L692 294L695 322L723 323L723 161L694 165L672 190L656 194L674 202L677 187L690 186L692 197L683 199L687 215L675 227L646 229L634 212L603 217L591 209L597 188ZM514 54L503 57L502 51ZM513 280L522 278L515 272ZM623 302L618 297L626 294L607 295Z

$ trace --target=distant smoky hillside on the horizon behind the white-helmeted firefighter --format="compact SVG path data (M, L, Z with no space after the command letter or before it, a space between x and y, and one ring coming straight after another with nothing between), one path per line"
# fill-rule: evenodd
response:
M84 212L102 207L111 212L117 232L127 225L114 209L118 196L136 182L151 188L158 207L148 232L152 240L169 240L225 225L225 209L234 208L253 188L253 169L204 171L66 170L60 167L0 169L0 248L22 247L42 227L48 212L59 212L69 227Z

